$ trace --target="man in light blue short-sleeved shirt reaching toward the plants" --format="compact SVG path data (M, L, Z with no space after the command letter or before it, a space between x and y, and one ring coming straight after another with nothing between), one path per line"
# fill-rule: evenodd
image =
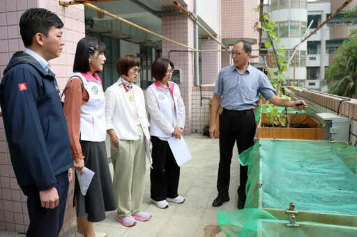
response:
M231 51L234 65L223 68L218 75L213 90L211 107L210 136L216 134L215 117L221 106L220 115L220 164L218 168L218 197L212 206L221 206L229 201L228 188L230 179L231 156L234 142L237 142L238 153L254 145L256 130L253 109L257 106L259 92L272 104L294 107L298 110L307 108L304 101L288 101L276 95L268 77L248 62L252 46L245 40L238 40ZM222 100L221 100L222 97ZM245 204L245 183L247 182L248 166L241 165L240 186L238 188L238 209Z

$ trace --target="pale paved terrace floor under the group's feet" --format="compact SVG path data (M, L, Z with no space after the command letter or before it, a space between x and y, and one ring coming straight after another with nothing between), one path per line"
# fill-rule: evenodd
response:
M137 222L134 227L124 227L116 221L116 211L107 213L107 218L94 224L96 231L107 233L107 237L119 236L205 236L204 227L215 229L217 222L217 208L212 206L213 199L217 196L215 188L218 174L218 139L207 138L199 133L185 136L185 141L190 148L192 160L181 165L181 177L179 183L179 195L185 197L183 204L172 204L168 209L158 209L150 199L150 170L146 166L146 185L142 211L153 216L148 222ZM109 147L107 147L109 148ZM109 153L108 153L109 154ZM238 153L234 147L231 165L231 184L229 196L231 200L220 206L220 210L235 210L237 203L236 190L238 188ZM112 164L109 165L112 170ZM208 227L210 226L210 227ZM209 236L206 233L206 236ZM0 231L0 236L20 237L22 234L14 234ZM62 237L74 236L74 229ZM215 236L214 234L212 236ZM225 236L220 231L216 236Z

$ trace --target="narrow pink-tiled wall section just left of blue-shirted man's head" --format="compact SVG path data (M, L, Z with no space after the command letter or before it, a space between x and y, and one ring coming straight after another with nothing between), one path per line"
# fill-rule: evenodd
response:
M202 50L218 50L221 49L220 44L214 40L202 39ZM202 84L215 83L217 81L218 72L220 72L220 56L221 52L202 52Z

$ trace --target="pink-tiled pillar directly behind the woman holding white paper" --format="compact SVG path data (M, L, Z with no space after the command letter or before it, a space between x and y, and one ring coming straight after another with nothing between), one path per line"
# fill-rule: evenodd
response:
M176 10L175 8L165 10ZM185 15L163 16L162 35L181 44L188 45L193 48L193 23ZM170 50L183 50L180 52L171 52ZM181 69L182 82L179 83L181 96L185 104L186 122L185 134L190 134L192 131L192 85L194 77L194 57L191 52L184 47L181 47L167 40L162 40L162 57L169 58L175 65L176 69Z

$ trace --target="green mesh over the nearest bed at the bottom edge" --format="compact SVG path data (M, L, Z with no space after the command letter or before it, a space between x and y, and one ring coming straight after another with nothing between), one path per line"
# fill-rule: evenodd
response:
M218 224L226 236L261 237L332 237L357 236L357 227L316 222L296 222L300 227L287 227L287 220L277 220L261 209L217 212Z

